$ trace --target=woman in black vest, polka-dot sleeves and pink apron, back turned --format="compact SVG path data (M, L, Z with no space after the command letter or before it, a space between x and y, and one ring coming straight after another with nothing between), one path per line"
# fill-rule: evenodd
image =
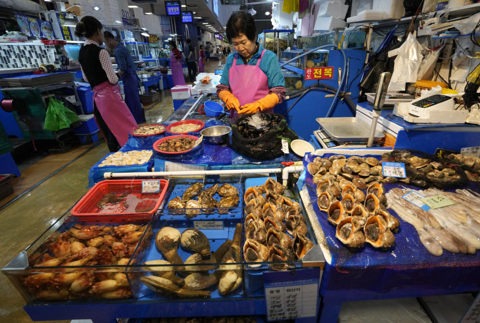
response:
M93 89L93 116L110 152L117 151L137 124L121 97L110 54L100 47L102 25L96 18L84 16L76 25L75 35L87 39L78 53L78 62L83 79Z

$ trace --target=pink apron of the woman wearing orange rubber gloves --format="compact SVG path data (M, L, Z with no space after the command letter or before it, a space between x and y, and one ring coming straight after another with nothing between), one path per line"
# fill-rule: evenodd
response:
M265 97L269 92L268 78L260 67L258 67L264 53L265 49L261 51L260 58L257 60L256 65L237 65L236 57L239 54L236 54L235 58L233 58L233 64L228 70L228 82L230 83L231 92L240 102L240 106L253 103ZM271 113L273 109L263 110L261 112ZM238 119L238 113L235 109L230 110L230 118L232 118L233 121Z

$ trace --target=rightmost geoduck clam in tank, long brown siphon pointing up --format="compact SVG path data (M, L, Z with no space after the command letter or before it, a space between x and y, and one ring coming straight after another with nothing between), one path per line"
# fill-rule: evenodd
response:
M240 262L240 240L241 240L241 223L238 223L233 233L232 244L230 249L221 259L222 264L239 263ZM220 276L221 273L221 276ZM237 289L242 281L241 267L239 265L224 265L218 272L220 279L218 281L218 293L225 295Z

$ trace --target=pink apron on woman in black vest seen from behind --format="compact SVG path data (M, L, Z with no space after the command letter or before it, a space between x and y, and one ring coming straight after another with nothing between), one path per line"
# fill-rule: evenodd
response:
M138 125L121 98L120 88L108 81L100 83L93 88L93 101L108 129L123 146L128 140L128 133Z

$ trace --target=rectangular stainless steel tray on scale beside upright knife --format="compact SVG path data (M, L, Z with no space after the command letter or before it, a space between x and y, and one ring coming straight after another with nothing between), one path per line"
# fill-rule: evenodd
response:
M338 141L367 141L370 125L355 117L316 118L323 130ZM375 131L374 141L381 140L385 135Z

